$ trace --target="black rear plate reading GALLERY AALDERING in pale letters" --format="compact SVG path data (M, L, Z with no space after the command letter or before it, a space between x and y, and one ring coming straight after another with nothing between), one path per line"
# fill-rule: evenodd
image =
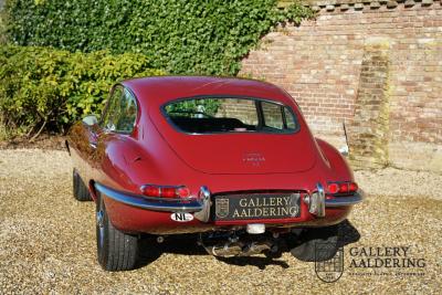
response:
M250 193L214 197L214 220L299 217L299 193Z

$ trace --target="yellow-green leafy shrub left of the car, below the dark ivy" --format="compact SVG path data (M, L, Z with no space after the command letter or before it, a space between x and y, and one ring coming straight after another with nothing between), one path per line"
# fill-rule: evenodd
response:
M85 114L101 114L116 81L161 74L144 54L1 46L0 116L18 134L63 131Z

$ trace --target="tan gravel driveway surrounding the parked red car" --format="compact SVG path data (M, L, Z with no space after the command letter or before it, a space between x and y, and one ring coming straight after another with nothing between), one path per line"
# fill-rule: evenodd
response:
M191 239L166 240L156 259L130 272L106 273L95 257L94 204L72 197L66 152L0 150L0 294L4 293L438 293L442 289L440 175L360 171L369 196L348 226L339 281L323 283L314 263L288 253L217 260ZM355 231L354 230L354 233ZM350 267L350 249L410 246L422 267ZM148 246L145 246L149 251ZM354 252L355 254L356 252ZM381 257L378 253L377 257ZM149 263L149 264L148 264Z

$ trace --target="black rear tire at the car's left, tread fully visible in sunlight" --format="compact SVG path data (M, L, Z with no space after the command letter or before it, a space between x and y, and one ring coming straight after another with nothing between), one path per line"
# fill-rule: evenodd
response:
M98 263L109 272L133 270L138 256L138 238L112 225L102 198L96 203L96 241Z

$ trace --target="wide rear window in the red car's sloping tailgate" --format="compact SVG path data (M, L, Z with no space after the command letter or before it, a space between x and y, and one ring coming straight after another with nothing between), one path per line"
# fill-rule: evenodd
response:
M298 129L290 107L259 98L179 99L164 106L162 112L176 128L189 134L291 134Z

